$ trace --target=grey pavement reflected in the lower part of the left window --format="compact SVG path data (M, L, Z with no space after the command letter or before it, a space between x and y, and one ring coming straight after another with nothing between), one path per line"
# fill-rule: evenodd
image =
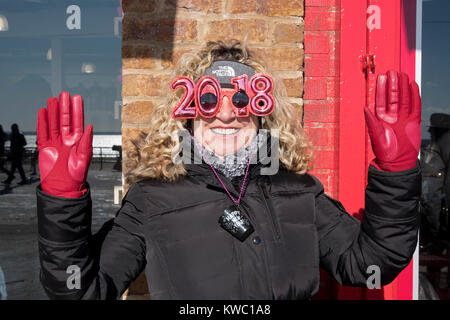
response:
M19 185L19 175L8 186L0 182L0 300L48 299L39 282L39 252L36 217L36 186L39 170L30 183ZM6 179L0 173L0 181ZM92 232L114 218L119 204L114 204L114 186L122 184L122 173L113 164L92 163L88 174L92 196ZM3 275L3 277L2 277ZM6 295L6 297L5 297Z

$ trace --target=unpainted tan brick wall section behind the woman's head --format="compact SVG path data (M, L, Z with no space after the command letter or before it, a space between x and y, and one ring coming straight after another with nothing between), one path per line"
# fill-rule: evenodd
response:
M304 0L123 0L123 150L148 128L152 107L170 90L168 71L183 53L208 40L243 40L247 35L249 47L270 63L290 100L301 108L303 5ZM127 170L123 168L124 175ZM146 288L130 291L140 294Z

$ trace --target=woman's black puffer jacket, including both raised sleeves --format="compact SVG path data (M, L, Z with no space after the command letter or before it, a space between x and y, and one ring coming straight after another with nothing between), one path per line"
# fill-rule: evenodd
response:
M80 199L38 187L41 281L50 298L116 299L145 269L152 299L308 299L319 266L364 286L370 265L382 284L410 261L417 241L420 169L369 168L363 223L313 176L250 170L241 201L255 228L244 242L218 224L232 204L211 169L188 165L176 183L131 186L114 221L91 235L89 193ZM238 190L222 176L234 197ZM81 288L66 285L70 265Z

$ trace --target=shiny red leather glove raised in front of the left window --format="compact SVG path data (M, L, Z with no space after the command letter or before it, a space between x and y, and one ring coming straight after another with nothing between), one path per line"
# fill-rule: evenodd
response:
M84 131L83 99L61 92L38 113L37 140L42 190L52 196L78 198L92 158L92 125Z

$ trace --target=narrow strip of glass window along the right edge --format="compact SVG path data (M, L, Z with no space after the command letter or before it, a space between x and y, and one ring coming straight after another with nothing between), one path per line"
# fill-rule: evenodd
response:
M420 299L450 299L450 2L423 0ZM430 117L434 116L430 122Z

